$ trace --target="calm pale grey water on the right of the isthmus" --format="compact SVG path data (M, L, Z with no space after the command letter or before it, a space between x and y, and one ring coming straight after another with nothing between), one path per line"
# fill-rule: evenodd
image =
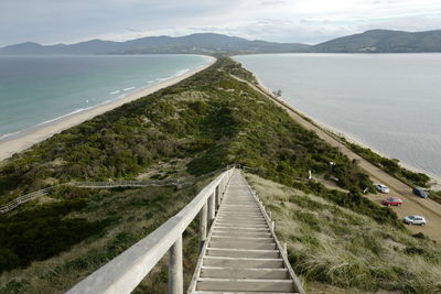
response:
M441 178L441 54L236 56L318 122Z

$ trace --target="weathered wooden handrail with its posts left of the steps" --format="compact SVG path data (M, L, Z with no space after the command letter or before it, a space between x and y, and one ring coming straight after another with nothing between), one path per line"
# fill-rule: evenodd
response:
M180 213L67 293L130 293L166 252L169 252L169 293L183 293L182 233L200 214L200 237L202 241L206 240L206 225L215 217L233 171L234 167L218 175Z

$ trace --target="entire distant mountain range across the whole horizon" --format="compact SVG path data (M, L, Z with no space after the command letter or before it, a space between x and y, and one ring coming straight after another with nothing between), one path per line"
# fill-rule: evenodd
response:
M26 42L0 48L0 54L168 54L168 53L410 53L441 52L441 30L402 32L372 30L316 45L249 41L214 33L148 36L126 42L92 40L76 44L41 45Z

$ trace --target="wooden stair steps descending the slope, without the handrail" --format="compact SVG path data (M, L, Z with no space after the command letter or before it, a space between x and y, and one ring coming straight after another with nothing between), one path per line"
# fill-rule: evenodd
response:
M189 293L304 293L273 222L239 171L218 207Z

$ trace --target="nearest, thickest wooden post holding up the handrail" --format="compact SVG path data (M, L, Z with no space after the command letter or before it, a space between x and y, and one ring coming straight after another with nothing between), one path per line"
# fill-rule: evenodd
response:
M169 294L183 294L182 236L169 249Z

